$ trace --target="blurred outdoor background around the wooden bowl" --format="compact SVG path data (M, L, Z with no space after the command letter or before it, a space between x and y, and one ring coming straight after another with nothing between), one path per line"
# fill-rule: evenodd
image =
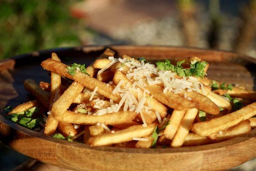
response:
M256 58L256 0L0 0L0 59L89 44L232 50ZM27 157L0 143L0 170ZM232 170L255 171L256 159Z

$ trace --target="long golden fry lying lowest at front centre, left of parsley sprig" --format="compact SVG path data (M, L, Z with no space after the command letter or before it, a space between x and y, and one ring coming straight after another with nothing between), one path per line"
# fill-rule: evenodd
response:
M109 144L117 144L122 142L132 141L133 137L145 137L150 136L156 124L149 124L147 127L142 125L134 125L124 130L116 131L115 133L105 133L98 136L90 137L88 144L91 146L101 146Z

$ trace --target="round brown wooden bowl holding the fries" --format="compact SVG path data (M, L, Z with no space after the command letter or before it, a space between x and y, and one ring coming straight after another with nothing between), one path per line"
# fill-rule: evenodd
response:
M256 59L217 50L163 46L110 46L118 56L127 54L147 59L198 56L210 63L208 77L253 89ZM46 50L0 62L0 108L33 99L23 87L25 79L49 81L42 60L56 52L64 63L90 64L105 47L86 46ZM8 71L6 70L8 69ZM255 80L254 80L255 81ZM134 170L226 170L256 156L256 129L224 142L196 147L134 149L90 147L28 130L0 115L0 141L19 153L41 162L79 171Z

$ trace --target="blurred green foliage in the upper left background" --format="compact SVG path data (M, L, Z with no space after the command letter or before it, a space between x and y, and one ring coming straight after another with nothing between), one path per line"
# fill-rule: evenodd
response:
M0 59L33 50L80 44L70 1L2 0ZM74 2L74 1L72 1Z

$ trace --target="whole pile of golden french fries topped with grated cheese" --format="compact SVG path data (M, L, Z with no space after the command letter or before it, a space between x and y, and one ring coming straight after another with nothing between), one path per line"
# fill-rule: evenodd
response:
M83 70L63 64L52 53L51 59L41 64L51 72L51 83L25 80L25 89L36 100L15 107L7 115L38 107L41 112L36 115L47 117L46 123L41 124L44 128L38 131L57 138L55 135L61 134L65 139L91 146L195 146L231 139L256 127L255 91L244 87L211 90L213 80L180 77L176 73L172 73L173 80L190 79L201 86L197 91L170 91L165 85L168 78L163 76L166 72L154 64L149 64L152 72L146 75L146 71L137 68L145 66L145 61L127 55L119 59L113 56L115 52L106 49ZM182 60L184 68L194 60L202 61L196 57ZM207 69L208 65L205 74ZM145 73L136 79L136 72ZM152 84L147 81L150 79ZM154 81L159 83L153 84ZM235 111L225 94L237 97L243 107Z

